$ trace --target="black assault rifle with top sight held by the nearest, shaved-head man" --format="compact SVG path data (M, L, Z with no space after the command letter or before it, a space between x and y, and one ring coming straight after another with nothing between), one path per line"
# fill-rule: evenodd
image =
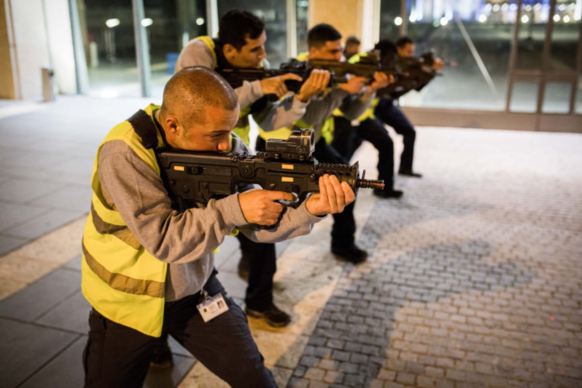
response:
M296 201L285 205L298 207L309 193L320 191L318 180L324 174L347 182L354 193L358 188L383 188L383 180L360 177L358 163L353 165L319 163L313 156L314 130L294 130L288 140L269 139L265 152L256 155L219 154L172 149L160 152L159 165L168 190L184 203L207 204L211 198L223 198L238 191L239 184L258 184L266 190L286 191Z

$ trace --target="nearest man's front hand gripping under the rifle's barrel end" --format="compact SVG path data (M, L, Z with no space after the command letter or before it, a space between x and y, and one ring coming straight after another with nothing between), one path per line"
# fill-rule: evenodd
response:
M351 204L356 194L349 184L339 182L335 175L325 174L319 179L320 192L307 198L307 211L315 216L340 213Z

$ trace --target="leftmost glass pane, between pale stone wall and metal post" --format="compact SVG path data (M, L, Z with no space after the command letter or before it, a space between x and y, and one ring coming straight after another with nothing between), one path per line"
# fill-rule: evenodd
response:
M131 0L79 3L87 58L88 94L141 97Z

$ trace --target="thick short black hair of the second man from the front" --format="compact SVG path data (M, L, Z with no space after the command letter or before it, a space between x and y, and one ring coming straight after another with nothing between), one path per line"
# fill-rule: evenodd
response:
M247 37L257 39L264 30L265 23L259 17L244 9L231 9L220 19L218 40L240 51Z

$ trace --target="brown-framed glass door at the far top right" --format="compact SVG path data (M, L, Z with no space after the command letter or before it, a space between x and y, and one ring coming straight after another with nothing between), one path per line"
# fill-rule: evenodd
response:
M508 111L580 109L580 0L518 1L514 42Z

